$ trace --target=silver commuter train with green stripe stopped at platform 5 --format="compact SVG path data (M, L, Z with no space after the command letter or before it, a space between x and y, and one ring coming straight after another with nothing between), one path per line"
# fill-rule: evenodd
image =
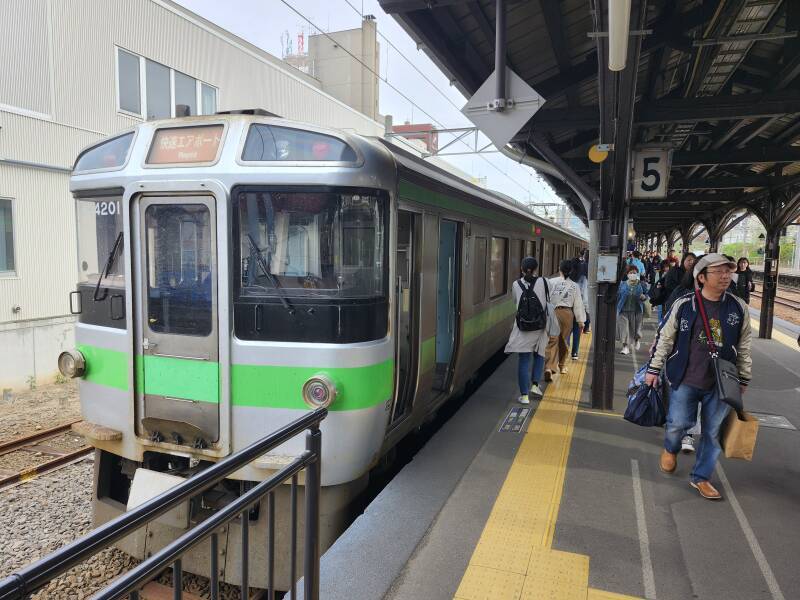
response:
M386 140L261 110L143 122L84 149L70 190L76 348L59 368L79 381L78 428L96 449L95 524L324 406L323 550L370 471L503 348L522 258L551 275L587 245ZM119 547L150 555L303 444ZM266 519L249 518L251 584L265 587ZM236 524L220 536L232 584L239 536ZM184 570L208 575L207 553L192 550ZM276 556L279 588L288 571Z

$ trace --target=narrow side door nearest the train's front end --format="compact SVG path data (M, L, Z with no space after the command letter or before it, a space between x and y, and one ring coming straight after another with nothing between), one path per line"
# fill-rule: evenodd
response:
M397 211L397 279L395 281L395 398L391 423L405 417L412 407L417 388L419 356L419 265L418 230L420 217Z

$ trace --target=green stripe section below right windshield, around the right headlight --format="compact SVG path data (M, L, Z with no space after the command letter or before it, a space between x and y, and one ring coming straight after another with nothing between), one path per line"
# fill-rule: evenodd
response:
M338 395L329 410L357 410L382 404L392 397L394 361L365 367L275 367L233 365L231 394L236 406L308 409L303 384L324 373L336 383Z

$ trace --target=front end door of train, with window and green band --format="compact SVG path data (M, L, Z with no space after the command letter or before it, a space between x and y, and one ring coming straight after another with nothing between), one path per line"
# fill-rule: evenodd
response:
M139 430L204 447L219 439L214 200L144 197L136 216Z

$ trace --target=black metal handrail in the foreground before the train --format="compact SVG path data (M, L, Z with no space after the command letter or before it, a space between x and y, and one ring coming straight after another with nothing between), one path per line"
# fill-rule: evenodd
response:
M264 495L269 494L270 496L270 516L274 518L274 496L273 490L278 485L283 483L289 477L292 478L292 518L295 518L295 502L296 499L296 485L297 485L297 473L302 470L303 468L307 467L306 472L306 481L305 481L305 508L306 508L306 540L305 540L305 555L304 555L304 565L305 565L305 582L304 587L306 589L306 597L307 598L317 598L319 595L319 493L320 493L320 462L321 462L321 451L322 451L322 442L321 442L321 433L319 431L319 424L322 420L327 416L328 410L325 408L317 409L313 412L310 412L306 415L303 415L296 421L289 423L278 429L277 431L271 433L270 435L253 442L246 448L239 450L220 460L219 462L215 463L214 465L204 469L197 474L193 475L192 477L188 478L186 481L178 484L174 488L167 490L166 492L148 500L144 504L134 508L133 510L126 512L118 516L111 521L108 521L104 525L96 528L95 530L91 531L90 533L86 534L85 536L78 538L74 542L64 546L56 550L55 552L45 556L44 558L36 561L35 563L28 565L27 567L17 571L6 577L5 579L0 580L0 600L22 600L26 598L28 595L36 592L37 590L41 589L45 585L47 585L52 579L58 577L62 573L65 573L72 567L76 566L77 564L81 563L86 558L93 556L97 552L109 547L111 544L116 542L117 540L125 537L132 531L138 529L139 527L146 525L147 523L153 521L158 516L164 514L165 512L173 509L178 504L188 500L192 496L195 496L213 486L221 482L231 473L241 469L243 466L247 465L248 463L252 462L254 459L258 458L265 452L269 452L270 450L280 446L287 440L291 439L301 431L309 429L306 436L306 451L300 455L297 459L291 462L289 465L275 473L269 479L259 483L256 487L249 490L246 494L240 496L237 500L233 503L229 504L228 506L224 507L221 511L209 517L205 521L198 524L195 528L190 530L187 534L184 534L181 538L167 546L164 550L158 552L150 559L139 565L137 569L131 571L131 573L138 572L143 567L149 566L153 564L154 559L161 559L165 556L165 551L172 548L175 544L183 540L184 544L190 544L186 547L186 550L194 545L195 543L199 542L201 539L207 537L208 533L211 530L219 527L220 525L217 524L217 515L225 514L230 506L238 507L240 504L244 503L245 506L250 506L255 504L258 500L260 500ZM244 513L247 513L245 509ZM310 514L311 513L311 514ZM233 517L228 518L225 522L230 521ZM209 521L213 521L212 525L210 525L211 530L206 530L204 525ZM270 523L270 536L272 536L272 524ZM293 530L296 529L293 526ZM197 534L199 537L195 538L192 534L195 530L199 530ZM309 531L310 530L310 531ZM246 532L247 531L247 519L243 520L242 525L242 542L243 545L246 543ZM212 545L215 541L216 534L212 535ZM182 554L181 552L180 554ZM294 549L292 552L292 567L294 568ZM212 553L212 557L216 559L216 553ZM273 558L270 556L270 562L272 562ZM167 563L170 561L167 561ZM246 570L247 570L247 561L243 560L243 579L242 584L243 588L246 584ZM165 563L166 564L166 563ZM176 561L177 571L180 572L180 560ZM272 572L272 568L270 568L270 574ZM216 570L212 572L212 583L213 580L216 579ZM125 580L125 578L120 579L120 581ZM292 582L292 586L294 587L294 581ZM111 586L113 587L113 585ZM180 589L177 587L176 589ZM212 586L213 591L213 586ZM103 592L101 592L102 594ZM135 597L135 592L133 592ZM310 595L309 595L310 594ZM102 598L111 597L111 596L98 596ZM294 594L293 594L294 597Z

